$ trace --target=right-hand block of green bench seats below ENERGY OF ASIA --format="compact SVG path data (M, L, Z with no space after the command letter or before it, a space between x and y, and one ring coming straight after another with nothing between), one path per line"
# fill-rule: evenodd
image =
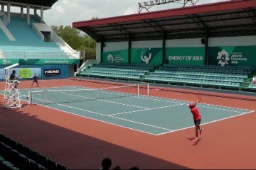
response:
M145 79L154 82L239 87L251 72L251 67L174 67L166 64L147 75Z

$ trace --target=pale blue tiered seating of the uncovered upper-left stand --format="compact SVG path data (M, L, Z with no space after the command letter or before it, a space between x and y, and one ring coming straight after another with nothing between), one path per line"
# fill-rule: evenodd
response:
M31 23L38 21L31 18ZM15 41L11 41L0 31L0 51L4 52L6 58L69 58L55 42L42 40L24 18L11 17L11 23L6 28L15 38Z

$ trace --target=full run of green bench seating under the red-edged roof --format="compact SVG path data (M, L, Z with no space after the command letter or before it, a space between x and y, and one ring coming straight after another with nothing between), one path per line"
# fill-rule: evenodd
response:
M212 86L221 88L240 89L241 86L256 89L245 83L254 68L250 66L162 66L144 64L95 64L80 72L85 77L100 77L149 81L154 83Z

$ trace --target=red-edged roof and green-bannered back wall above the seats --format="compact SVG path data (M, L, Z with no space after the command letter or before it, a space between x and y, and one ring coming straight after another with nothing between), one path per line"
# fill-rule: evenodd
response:
M223 1L80 21L73 27L98 42L99 62L146 63L141 55L151 53L152 64L255 66L255 7L253 0ZM219 52L227 52L228 61L220 61Z

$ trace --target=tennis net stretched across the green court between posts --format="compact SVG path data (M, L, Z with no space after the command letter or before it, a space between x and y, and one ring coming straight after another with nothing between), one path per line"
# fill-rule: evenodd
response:
M102 89L74 89L28 91L28 105L46 103L71 103L99 99L123 98L126 96L148 95L149 84L130 84Z

